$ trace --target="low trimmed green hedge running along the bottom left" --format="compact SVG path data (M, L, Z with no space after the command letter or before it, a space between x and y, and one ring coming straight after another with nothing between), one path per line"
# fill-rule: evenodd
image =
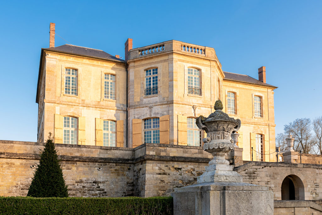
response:
M173 214L173 198L0 197L0 214Z

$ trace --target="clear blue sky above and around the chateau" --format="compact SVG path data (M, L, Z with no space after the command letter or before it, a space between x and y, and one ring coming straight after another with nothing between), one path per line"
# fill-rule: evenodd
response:
M41 48L49 23L73 45L124 57L167 40L213 47L224 71L275 90L276 133L296 118L322 115L322 1L2 1L0 139L37 140L35 103ZM66 42L56 36L56 46Z

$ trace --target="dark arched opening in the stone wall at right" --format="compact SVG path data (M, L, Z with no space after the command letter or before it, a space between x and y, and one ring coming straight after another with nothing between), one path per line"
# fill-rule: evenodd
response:
M282 181L281 200L305 200L304 184L297 175L288 175Z

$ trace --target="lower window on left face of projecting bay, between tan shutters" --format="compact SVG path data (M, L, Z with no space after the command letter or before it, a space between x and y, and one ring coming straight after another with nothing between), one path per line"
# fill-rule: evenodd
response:
M144 120L144 143L160 143L159 118Z

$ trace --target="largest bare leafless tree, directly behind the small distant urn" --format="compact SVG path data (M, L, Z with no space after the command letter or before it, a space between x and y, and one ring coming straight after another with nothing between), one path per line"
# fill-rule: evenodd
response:
M311 134L311 120L308 118L296 119L284 125L285 134L291 133L294 138L293 149L297 152L309 154L313 150L314 140Z

